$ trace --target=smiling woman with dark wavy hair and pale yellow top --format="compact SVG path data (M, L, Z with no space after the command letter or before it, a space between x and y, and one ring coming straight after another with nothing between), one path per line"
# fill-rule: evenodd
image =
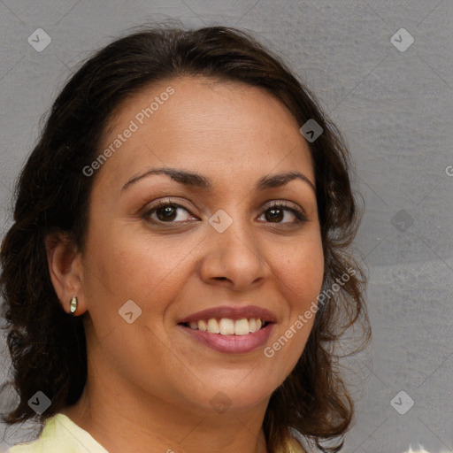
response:
M250 35L150 27L90 58L18 181L1 288L34 451L338 451L362 320L341 134ZM327 447L326 443L329 443Z

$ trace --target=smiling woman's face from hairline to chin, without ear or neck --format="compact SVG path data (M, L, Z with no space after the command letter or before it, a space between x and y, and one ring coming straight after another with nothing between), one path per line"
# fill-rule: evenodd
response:
M191 410L267 402L303 352L314 318L300 316L323 275L296 120L262 88L184 77L122 104L109 147L87 176L81 257L98 379ZM299 176L275 178L286 173ZM246 334L259 326L249 319L266 323Z

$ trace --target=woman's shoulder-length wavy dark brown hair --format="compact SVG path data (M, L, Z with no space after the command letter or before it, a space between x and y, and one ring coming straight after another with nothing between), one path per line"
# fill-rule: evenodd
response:
M319 303L303 354L271 395L263 427L270 452L281 449L292 430L325 453L339 451L354 404L334 345L359 320L364 334L355 352L365 349L371 338L364 297L367 278L348 251L361 219L351 188L349 150L316 97L288 66L250 32L232 27L142 26L88 58L59 93L16 182L13 223L0 252L4 328L13 372L13 380L4 386L19 394L16 407L2 415L4 423L43 423L80 398L87 380L83 316L67 314L58 301L45 239L63 232L84 250L96 175L88 178L82 169L99 156L113 114L129 96L154 82L184 76L265 88L300 127L314 119L323 129L309 142L325 260L323 290L345 275L349 279ZM27 403L38 390L51 400L50 408L39 415ZM332 441L334 446L323 445Z

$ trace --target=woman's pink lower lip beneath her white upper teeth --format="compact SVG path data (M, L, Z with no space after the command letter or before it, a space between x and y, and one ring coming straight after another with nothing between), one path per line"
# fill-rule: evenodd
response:
M184 332L191 335L192 338L209 346L211 349L218 350L219 352L226 352L228 354L244 354L264 346L272 332L273 325L273 323L269 323L257 332L247 335L210 334L209 332L192 329L190 327L182 326L181 324L178 326L182 328Z

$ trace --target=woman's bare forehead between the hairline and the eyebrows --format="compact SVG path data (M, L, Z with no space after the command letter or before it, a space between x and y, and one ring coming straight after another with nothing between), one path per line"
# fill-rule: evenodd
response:
M269 172L298 166L312 180L296 119L265 88L242 82L185 76L143 88L112 116L100 151L109 147L114 152L102 173L122 179L143 165L235 165L239 172L259 164Z

